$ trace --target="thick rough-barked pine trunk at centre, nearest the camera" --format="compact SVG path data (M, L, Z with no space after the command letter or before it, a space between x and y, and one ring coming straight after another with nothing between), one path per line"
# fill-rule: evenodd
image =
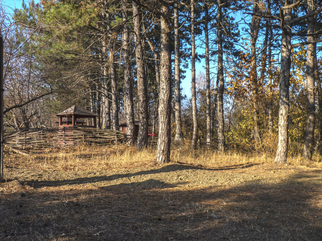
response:
M159 138L156 160L166 163L170 162L171 144L171 11L168 3L162 2L161 13Z

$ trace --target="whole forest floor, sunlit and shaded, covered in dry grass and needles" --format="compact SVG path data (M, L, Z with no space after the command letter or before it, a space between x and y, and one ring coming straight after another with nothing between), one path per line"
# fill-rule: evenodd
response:
M7 156L0 240L322 240L320 168L109 157Z

